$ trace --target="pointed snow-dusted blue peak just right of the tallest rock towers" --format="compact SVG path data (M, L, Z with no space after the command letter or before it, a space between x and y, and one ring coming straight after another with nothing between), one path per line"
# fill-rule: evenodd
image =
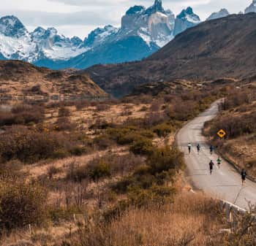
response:
M176 16L173 35L176 36L187 28L196 26L199 23L199 16L193 12L192 7L187 7L187 9L183 9L181 13Z

